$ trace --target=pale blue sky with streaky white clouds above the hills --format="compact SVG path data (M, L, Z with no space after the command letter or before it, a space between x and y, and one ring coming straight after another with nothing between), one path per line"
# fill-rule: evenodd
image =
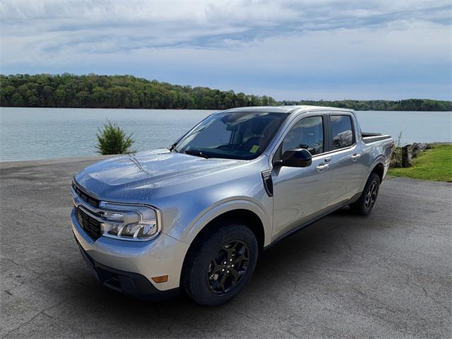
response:
M446 0L2 0L0 73L133 74L290 99L452 99Z

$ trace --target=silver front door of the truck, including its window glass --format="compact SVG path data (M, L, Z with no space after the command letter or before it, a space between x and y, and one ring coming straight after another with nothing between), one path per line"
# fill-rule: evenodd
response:
M295 122L275 155L290 148L306 148L312 155L308 167L273 167L273 239L328 208L331 156L326 150L325 117L313 115Z

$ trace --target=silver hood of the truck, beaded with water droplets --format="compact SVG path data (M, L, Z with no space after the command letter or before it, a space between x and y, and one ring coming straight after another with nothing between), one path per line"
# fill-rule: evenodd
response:
M155 193L162 187L186 184L244 162L205 159L172 153L165 148L96 162L83 169L74 179L88 193L102 200L138 202L150 198L150 191Z

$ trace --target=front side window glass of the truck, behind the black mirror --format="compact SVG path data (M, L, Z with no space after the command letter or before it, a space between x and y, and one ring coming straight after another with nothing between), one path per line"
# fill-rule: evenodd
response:
M283 141L283 153L290 148L306 148L311 155L323 153L323 118L308 117L298 121Z

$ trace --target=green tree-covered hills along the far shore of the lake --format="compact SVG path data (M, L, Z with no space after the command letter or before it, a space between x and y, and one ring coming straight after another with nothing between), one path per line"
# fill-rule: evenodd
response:
M172 85L135 76L76 76L69 73L0 75L2 107L227 109L267 105L318 105L375 111L452 111L451 101L429 99L278 102L266 95Z

